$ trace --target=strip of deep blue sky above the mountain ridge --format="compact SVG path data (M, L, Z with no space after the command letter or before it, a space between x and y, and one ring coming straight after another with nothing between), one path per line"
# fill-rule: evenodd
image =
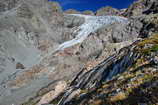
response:
M76 9L78 11L92 10L96 11L97 9L104 6L111 6L117 9L127 8L133 1L136 0L49 0L49 1L58 1L62 6L63 10L67 9Z

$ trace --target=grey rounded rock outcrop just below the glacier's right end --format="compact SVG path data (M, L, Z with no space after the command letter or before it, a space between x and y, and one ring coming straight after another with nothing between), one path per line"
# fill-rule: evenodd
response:
M112 41L116 43L138 38L142 27L142 22L136 18L131 19L128 24L118 24L112 31Z

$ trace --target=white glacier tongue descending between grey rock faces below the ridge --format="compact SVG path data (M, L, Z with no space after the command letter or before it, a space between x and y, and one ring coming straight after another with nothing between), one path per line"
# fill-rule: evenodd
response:
M71 47L75 44L82 43L90 33L97 31L101 27L107 27L114 23L127 23L128 19L120 16L88 16L81 14L70 14L73 16L84 17L85 23L78 27L74 32L77 32L77 36L70 40L62 43L56 49L56 51L64 50L65 48Z

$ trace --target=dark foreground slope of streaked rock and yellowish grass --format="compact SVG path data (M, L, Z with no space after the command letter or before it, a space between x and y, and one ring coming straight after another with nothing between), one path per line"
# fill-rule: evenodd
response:
M157 75L152 74L154 72L152 70L155 66L155 63L152 59L157 55L158 51L158 43L156 42L158 40L157 37L158 35L155 35L149 39L135 42L132 45L121 49L113 56L105 59L93 69L89 71L85 71L84 69L81 70L80 73L76 75L74 80L71 82L69 89L67 90L67 92L65 92L58 105L92 104L96 103L96 100L99 101L99 105L117 103L118 101L121 101L124 105L126 103L126 99L129 100L130 103L135 104L140 102L142 99L150 99L150 101L145 101L145 103L156 103L158 101L154 98L157 97L156 94L153 94L153 97L143 96L140 99L133 100L133 96L131 95L132 97L130 97L130 93L132 91L136 91L134 89L139 87L141 84L143 85L143 83L146 83L146 80L151 81L152 84L157 83L156 81L154 81L157 80ZM151 46L147 48L145 47L146 45ZM142 67L143 70L147 70L149 67L150 73L143 72L141 76L140 74L139 76L138 74L136 74L136 76L138 76L137 79L131 79L133 82L128 84L129 87L124 87L123 84L119 84L120 82L117 81L117 77L123 75L125 77L120 78L123 80L124 78L134 78L135 72L137 72L137 70L142 70L140 69L140 67ZM114 76L116 78L114 78ZM155 79L152 80L153 78ZM118 84L116 83L116 81ZM124 82L125 81L126 80L124 80ZM127 84L125 83L125 85ZM133 85L133 87L131 87L130 85ZM153 93L153 89L155 88L155 86L150 86L151 85L149 84L147 85L148 92ZM145 88L143 87L143 89ZM77 93L73 95L74 97L72 97L71 94L74 94L74 92L76 92L77 90L80 90L80 95L79 93ZM144 94L148 92L145 92ZM138 96L139 95L141 95L141 92L138 93Z

